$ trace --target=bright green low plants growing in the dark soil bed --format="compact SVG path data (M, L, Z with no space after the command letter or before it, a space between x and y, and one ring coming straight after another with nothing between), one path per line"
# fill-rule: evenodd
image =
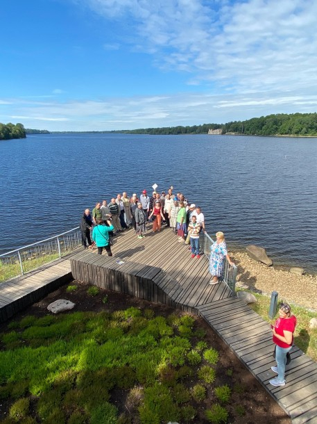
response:
M212 394L217 371L208 360L212 352L216 363L218 352L190 337L191 316L164 318L130 307L25 316L8 327L0 335L0 398L12 422L133 423L135 416L140 424L190 423L210 396L230 402L233 387ZM116 391L126 393L128 415L112 405ZM221 422L226 409L216 404L206 414Z

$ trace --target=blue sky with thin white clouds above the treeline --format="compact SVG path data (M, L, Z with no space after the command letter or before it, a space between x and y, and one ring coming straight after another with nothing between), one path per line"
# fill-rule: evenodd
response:
M315 0L10 0L0 122L49 131L317 111Z

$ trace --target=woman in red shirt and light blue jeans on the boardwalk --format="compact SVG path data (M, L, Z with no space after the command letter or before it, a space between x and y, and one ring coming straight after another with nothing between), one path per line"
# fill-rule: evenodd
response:
M296 317L291 313L291 307L287 303L280 304L278 313L280 318L277 318L275 326L272 328L273 342L276 344L275 360L277 366L271 367L278 375L270 380L270 384L272 386L285 386L286 354L293 345Z

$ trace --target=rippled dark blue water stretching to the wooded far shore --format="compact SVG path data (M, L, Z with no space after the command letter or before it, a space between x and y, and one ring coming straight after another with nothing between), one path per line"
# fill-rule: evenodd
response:
M0 253L156 183L199 204L229 245L317 272L317 138L52 134L1 141L0 160Z

